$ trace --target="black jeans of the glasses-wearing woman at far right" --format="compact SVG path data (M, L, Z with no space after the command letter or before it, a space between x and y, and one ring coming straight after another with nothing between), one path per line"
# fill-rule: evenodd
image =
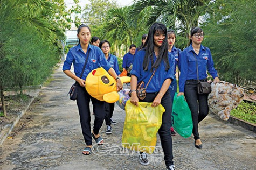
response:
M200 139L198 123L208 115L208 94L197 93L197 80L187 80L185 83L184 95L192 115L194 139ZM199 108L198 108L199 107ZM199 113L198 113L199 110Z

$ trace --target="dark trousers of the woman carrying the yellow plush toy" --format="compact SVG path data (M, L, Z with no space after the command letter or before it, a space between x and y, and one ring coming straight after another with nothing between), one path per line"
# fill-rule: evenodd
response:
M78 86L77 105L80 115L80 123L82 128L82 135L84 136L86 145L92 145L91 136L91 114L89 103L92 101L94 112L94 134L99 134L100 128L105 118L104 102L93 98L88 94L84 87Z

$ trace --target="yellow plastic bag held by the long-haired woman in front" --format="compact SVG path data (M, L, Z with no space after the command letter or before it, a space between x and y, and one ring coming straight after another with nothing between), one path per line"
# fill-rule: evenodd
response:
M151 154L156 146L156 133L162 124L165 112L160 104L139 102L136 107L130 100L126 102L126 119L123 126L122 146L135 151Z

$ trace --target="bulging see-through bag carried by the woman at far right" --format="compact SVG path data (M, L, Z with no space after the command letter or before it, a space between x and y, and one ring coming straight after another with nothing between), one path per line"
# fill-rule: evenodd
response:
M236 84L225 81L212 82L211 93L208 96L209 110L227 121L231 110L243 101L244 95L244 89Z

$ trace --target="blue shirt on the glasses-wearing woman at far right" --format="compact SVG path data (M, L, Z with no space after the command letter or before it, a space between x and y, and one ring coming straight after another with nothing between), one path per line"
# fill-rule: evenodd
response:
M181 75L179 76L179 92L184 92L186 80L197 80L196 59L194 55L197 58L199 80L206 79L207 70L213 79L218 76L217 71L213 66L210 49L201 45L199 54L197 55L193 51L192 44L190 44L189 47L183 50L181 57L179 58L181 65Z

